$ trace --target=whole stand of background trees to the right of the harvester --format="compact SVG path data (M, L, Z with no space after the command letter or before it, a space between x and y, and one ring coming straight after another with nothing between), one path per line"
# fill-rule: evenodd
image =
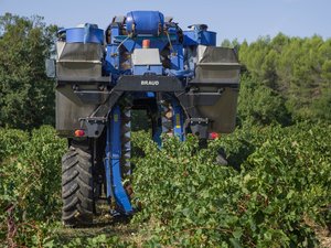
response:
M255 122L331 120L331 39L279 33L236 47L243 65L239 116Z

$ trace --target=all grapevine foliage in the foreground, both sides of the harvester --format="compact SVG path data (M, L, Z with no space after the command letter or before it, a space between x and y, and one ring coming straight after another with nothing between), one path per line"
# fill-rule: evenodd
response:
M134 216L143 246L314 247L311 223L330 225L330 125L237 129L199 149L166 138L159 149L134 133ZM63 240L60 158L65 141L51 127L31 134L0 130L0 240L28 247L136 247L98 235ZM15 142L17 141L17 142ZM231 165L216 161L223 148ZM241 168L241 169L239 169ZM134 224L132 224L134 225Z

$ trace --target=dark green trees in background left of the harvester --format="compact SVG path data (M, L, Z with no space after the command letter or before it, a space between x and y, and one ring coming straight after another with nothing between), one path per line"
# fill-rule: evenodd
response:
M0 127L54 122L54 83L44 73L56 26L42 18L0 17Z

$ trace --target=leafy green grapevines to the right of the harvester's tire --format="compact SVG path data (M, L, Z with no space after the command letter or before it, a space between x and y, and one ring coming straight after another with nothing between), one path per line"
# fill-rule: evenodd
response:
M135 220L152 226L151 244L317 246L308 219L330 223L328 130L308 123L250 128L201 151L193 137L168 139L162 150L139 138L146 157L136 161L134 185L143 209ZM215 164L220 147L244 160L241 171Z

